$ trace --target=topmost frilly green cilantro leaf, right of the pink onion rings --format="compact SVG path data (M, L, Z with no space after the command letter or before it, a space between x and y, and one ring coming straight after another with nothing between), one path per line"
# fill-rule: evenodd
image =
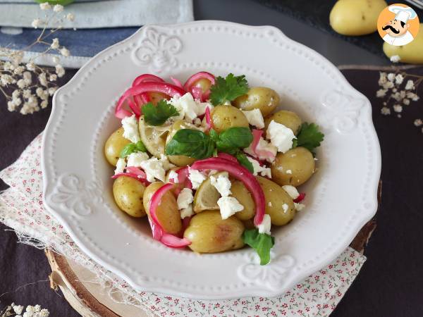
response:
M226 104L228 101L233 101L246 94L247 91L248 83L245 75L235 76L231 73L226 78L219 76L216 78L215 84L210 87L210 101L214 106Z

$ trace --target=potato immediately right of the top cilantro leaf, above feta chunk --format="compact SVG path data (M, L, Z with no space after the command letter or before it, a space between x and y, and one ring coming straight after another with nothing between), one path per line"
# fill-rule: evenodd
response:
M252 87L247 94L238 97L233 105L242 110L260 109L265 117L275 110L279 104L279 95L274 89L267 87Z

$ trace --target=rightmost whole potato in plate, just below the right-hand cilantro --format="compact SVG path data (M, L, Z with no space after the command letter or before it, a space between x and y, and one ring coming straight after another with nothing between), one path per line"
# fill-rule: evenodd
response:
M271 164L271 179L279 185L300 186L314 173L314 157L305 147L295 147L285 154L278 153Z

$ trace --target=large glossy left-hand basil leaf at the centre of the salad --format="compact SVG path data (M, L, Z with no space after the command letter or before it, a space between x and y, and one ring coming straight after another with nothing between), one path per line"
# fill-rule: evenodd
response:
M213 155L214 141L200 130L181 129L166 145L166 155L185 155L194 159L206 159Z

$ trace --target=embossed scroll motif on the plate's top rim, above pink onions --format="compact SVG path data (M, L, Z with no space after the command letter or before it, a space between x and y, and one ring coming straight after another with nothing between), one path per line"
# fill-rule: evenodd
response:
M176 55L181 49L182 42L178 37L148 28L144 39L133 51L133 61L139 65L149 65L152 72L161 73L178 65Z

